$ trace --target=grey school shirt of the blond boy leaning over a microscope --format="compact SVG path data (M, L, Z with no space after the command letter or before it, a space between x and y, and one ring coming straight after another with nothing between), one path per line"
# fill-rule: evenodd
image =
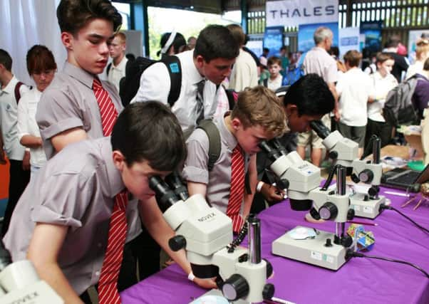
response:
M228 115L227 113L226 115ZM219 159L215 162L212 171L209 172L209 137L204 130L196 129L187 139L187 159L183 168L183 178L188 182L207 184L207 201L216 206L224 214L227 213L229 193L231 192L231 157L232 150L237 146L237 140L227 129L224 117L215 121L219 130L221 151ZM249 166L249 155L244 155L244 172ZM240 209L243 215L243 204Z

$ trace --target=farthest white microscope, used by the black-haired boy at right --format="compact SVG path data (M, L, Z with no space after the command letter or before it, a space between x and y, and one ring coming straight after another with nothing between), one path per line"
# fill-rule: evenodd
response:
M371 137L373 158L366 161L362 158L358 159L358 144L356 142L343 137L338 131L331 133L321 121L312 121L310 126L323 139L322 143L329 151L329 158L335 164L346 167L346 174L351 177L354 183L371 184L368 192L351 194L350 201L355 216L375 219L380 213L381 204L386 201L384 196L378 195L383 174L383 167L380 162L380 139L375 135Z

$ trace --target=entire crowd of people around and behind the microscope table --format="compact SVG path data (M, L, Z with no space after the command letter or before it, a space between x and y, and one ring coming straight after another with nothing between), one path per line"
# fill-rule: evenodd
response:
M115 7L61 0L57 17L66 63L58 70L46 46L30 48L33 87L16 79L10 54L0 50L0 162L5 153L10 162L1 235L13 260L31 260L66 303L91 303L91 286L99 303L120 303L120 290L173 261L197 285L215 288L213 279L193 276L183 250L168 246L174 231L150 177L181 172L190 195L205 196L238 234L251 212L283 198L267 176L262 141L277 140L303 158L310 145L317 166L324 155L314 120L358 142L361 153L373 134L387 145L394 126L383 118L383 103L402 71L418 78L413 100L420 117L428 107L427 38L418 41L409 68L392 38L368 75L358 51L338 58L326 27L301 58L288 56L286 47L271 57L264 49L258 58L236 24L207 26L197 38L172 31L161 37L160 61L146 61L125 102L124 81L143 61L125 53ZM299 62L305 75L284 86ZM207 120L220 137L216 159L200 127Z

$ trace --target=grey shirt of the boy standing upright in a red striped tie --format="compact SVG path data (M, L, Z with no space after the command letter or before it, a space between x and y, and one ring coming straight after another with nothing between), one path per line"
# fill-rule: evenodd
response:
M66 130L81 127L90 139L103 137L100 108L95 99L93 82L93 75L66 62L63 71L57 73L43 91L37 105L36 121L47 159L55 154L51 138ZM123 105L115 86L108 81L101 83L120 113Z

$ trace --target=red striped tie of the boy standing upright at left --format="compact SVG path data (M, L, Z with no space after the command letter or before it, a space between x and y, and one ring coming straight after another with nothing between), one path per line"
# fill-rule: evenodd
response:
M112 134L113 125L115 125L116 118L118 118L118 111L113 105L109 93L103 89L100 80L94 79L93 90L95 99L97 99L98 108L100 108L101 125L103 126L103 135L109 136Z

